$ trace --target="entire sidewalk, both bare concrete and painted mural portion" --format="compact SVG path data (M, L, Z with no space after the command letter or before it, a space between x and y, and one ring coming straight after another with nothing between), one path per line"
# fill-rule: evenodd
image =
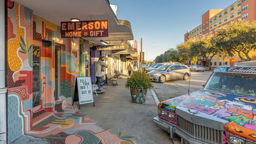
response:
M146 103L131 103L126 79L104 86L104 94L94 95L95 106L81 105L79 114L54 114L11 144L172 144L152 121L157 106L150 90Z

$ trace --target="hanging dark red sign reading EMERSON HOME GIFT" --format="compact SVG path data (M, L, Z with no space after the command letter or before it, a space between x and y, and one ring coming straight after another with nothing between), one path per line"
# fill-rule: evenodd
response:
M61 22L62 38L108 37L108 21Z

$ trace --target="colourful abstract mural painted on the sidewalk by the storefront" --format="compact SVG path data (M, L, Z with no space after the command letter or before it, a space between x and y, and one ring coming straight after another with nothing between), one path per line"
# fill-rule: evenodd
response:
M12 144L135 144L129 134L111 134L83 114L55 114Z

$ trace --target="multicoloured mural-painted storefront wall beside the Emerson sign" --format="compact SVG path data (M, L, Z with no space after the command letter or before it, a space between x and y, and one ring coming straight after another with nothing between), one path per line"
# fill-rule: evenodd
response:
M33 108L33 43L41 41L40 106ZM32 128L33 117L54 112L55 47L61 49L61 95L72 104L79 75L79 39L61 39L60 27L33 15L33 11L8 0L8 142ZM45 79L43 79L43 77ZM46 84L43 85L43 82Z

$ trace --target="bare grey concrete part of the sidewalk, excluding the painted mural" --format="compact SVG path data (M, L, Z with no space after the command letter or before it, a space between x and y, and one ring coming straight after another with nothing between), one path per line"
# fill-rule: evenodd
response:
M117 86L104 86L104 94L95 95L93 104L81 105L80 113L86 113L104 129L113 134L130 134L135 144L172 144L167 132L157 128L152 119L157 116L157 106L148 90L146 103L131 103L130 92L125 88L127 76L118 79ZM108 143L114 144L114 143ZM122 143L133 144L133 143Z

